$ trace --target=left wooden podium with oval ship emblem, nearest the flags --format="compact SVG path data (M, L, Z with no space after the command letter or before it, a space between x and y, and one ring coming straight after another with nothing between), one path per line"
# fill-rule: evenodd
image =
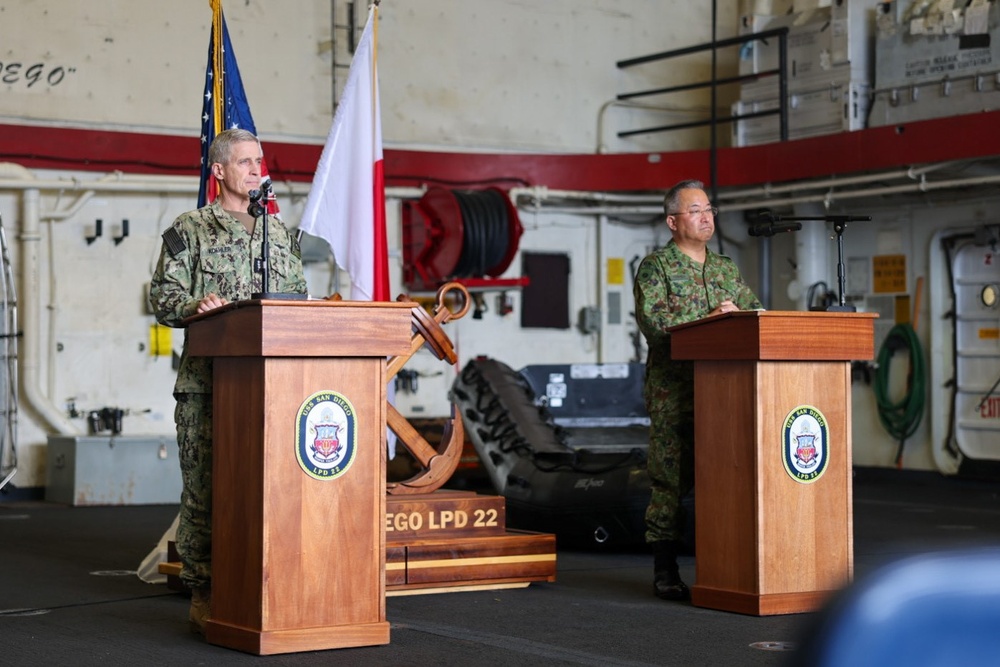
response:
M190 354L215 358L210 643L389 642L385 369L410 310L253 300L190 322Z

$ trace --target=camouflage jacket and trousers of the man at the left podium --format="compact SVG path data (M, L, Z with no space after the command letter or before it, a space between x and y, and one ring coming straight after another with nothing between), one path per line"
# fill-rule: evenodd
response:
M260 222L260 218L258 218ZM299 245L277 218L268 218L269 292L306 292ZM254 234L216 202L178 217L163 233L150 301L161 324L179 327L209 294L227 301L260 293L261 275L252 270L261 256L262 225ZM174 398L181 465L177 551L181 579L191 588L211 581L212 556L212 360L190 357L187 330Z

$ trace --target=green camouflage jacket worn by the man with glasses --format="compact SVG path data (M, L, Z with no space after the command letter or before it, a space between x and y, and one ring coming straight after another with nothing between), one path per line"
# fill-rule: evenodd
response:
M649 346L647 384L690 377L691 362L670 360L667 329L708 317L726 299L740 310L761 308L736 263L711 250L706 253L705 263L699 264L670 241L639 265L633 289L636 322Z

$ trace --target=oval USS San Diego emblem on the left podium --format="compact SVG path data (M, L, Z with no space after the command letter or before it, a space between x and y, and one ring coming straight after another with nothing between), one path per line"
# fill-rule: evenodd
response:
M357 426L354 406L335 391L319 391L299 407L295 426L295 456L310 477L340 477L354 463Z

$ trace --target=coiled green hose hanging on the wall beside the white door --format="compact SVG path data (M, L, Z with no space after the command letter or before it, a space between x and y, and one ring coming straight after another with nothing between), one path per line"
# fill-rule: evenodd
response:
M910 365L906 375L906 391L898 401L894 402L889 397L889 375L892 359L899 350L909 351ZM920 426L927 395L923 348L917 333L909 323L894 326L882 342L873 386L879 421L889 435L899 441L899 448L896 451L896 465L899 466L903 460L903 445L906 439Z

